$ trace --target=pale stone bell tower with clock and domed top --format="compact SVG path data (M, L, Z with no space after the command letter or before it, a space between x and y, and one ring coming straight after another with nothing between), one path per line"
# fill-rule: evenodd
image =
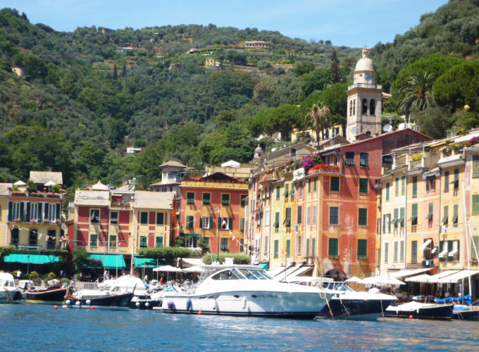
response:
M363 48L363 57L354 68L354 84L347 90L347 128L349 142L366 133L374 137L381 133L382 87L376 84L376 70L368 54L371 48Z

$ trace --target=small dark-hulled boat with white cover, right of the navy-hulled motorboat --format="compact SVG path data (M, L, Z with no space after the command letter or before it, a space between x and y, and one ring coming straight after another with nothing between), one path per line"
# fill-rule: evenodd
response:
M453 304L435 304L408 302L398 306L389 306L384 316L389 318L416 318L416 319L452 319Z

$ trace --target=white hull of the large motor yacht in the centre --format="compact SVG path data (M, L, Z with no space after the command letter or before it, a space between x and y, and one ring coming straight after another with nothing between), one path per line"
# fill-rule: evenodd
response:
M325 298L321 298L319 292L227 291L211 295L165 294L162 310L164 313L313 319L325 305Z

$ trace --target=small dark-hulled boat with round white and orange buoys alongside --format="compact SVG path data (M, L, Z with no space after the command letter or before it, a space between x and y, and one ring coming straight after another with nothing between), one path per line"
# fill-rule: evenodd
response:
M130 309L133 292L109 294L105 296L82 296L81 291L67 294L64 298L66 308Z

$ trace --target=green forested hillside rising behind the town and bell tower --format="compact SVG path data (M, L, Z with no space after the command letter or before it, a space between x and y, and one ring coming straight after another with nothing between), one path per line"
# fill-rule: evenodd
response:
M393 94L385 110L394 123L406 115L433 137L452 125L478 125L478 3L452 0L373 48L378 83ZM248 40L270 48L245 50ZM259 134L287 138L296 127L318 127L314 109L330 111L318 128L344 124L360 53L328 40L215 25L58 32L4 8L0 182L51 168L63 172L66 187L136 177L147 188L169 158L197 170L247 162ZM206 58L220 69L205 68ZM268 149L273 139L260 143ZM146 149L132 155L127 146Z

